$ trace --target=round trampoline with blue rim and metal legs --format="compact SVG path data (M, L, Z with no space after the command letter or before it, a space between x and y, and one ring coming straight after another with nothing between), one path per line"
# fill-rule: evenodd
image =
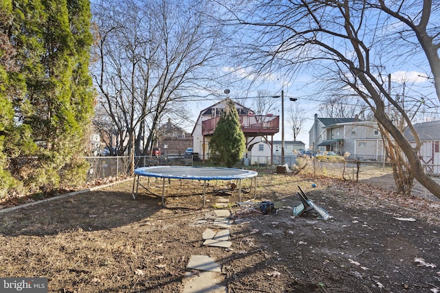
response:
M199 209L205 206L206 202L206 182L210 180L238 180L238 191L239 200L241 201L241 180L245 178L251 179L250 190L252 185L254 185L254 198L256 197L256 176L258 175L255 171L245 170L245 169L232 169L225 167L195 167L195 166L152 166L152 167L141 167L135 169L135 178L133 180L133 189L131 191L131 196L136 199L137 191L139 185L144 187L149 193L160 196L162 198L162 205L166 206L165 200L165 187L166 180L170 183L171 179L179 180L203 180L203 203ZM140 177L146 176L148 178L148 188L140 183ZM151 191L154 187L150 185L150 178L162 178L162 195L157 195ZM249 191L250 192L250 191Z

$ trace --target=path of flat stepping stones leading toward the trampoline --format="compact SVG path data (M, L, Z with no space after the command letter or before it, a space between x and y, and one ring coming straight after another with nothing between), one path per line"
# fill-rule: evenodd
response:
M225 203L229 200L223 198L219 202ZM216 204L219 207L218 204ZM230 226L232 215L228 209L214 210L214 222L200 222L197 224L209 224L211 228L207 228L201 237L205 246L214 246L219 248L229 248L232 242L229 241ZM182 293L226 293L228 290L225 286L220 285L223 280L221 274L221 265L215 262L208 255L191 255L188 270L184 279L184 290Z

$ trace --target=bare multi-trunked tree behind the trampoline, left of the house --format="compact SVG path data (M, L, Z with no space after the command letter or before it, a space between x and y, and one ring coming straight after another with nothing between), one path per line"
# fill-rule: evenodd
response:
M118 132L120 154L146 154L162 117L179 110L186 117L179 103L209 80L221 26L198 0L101 0L93 12L99 102Z

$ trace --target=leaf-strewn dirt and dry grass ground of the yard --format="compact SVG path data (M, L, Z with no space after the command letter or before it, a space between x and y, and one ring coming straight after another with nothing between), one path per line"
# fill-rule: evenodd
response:
M209 192L203 209L164 209L144 189L133 200L132 183L0 213L0 277L46 277L49 292L181 292L190 256L209 255L228 292L440 292L438 200L260 172L255 201L274 212L236 205L225 182L210 182L207 191L227 192ZM294 217L298 185L332 218ZM166 190L170 206L197 207L201 196L190 194L203 189L176 181ZM203 246L220 198L233 215L230 248Z

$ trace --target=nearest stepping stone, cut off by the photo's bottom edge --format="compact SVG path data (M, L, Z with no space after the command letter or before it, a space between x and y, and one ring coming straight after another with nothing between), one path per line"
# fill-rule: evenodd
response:
M197 276L188 272L189 277L184 279L182 293L227 293L225 286L219 285L222 281L218 272L200 272Z

